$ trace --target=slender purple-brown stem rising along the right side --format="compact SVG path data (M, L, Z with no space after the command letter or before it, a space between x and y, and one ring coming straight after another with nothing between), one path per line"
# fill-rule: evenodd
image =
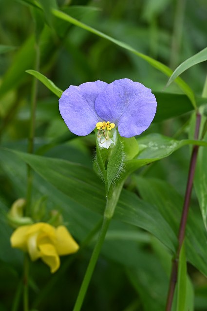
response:
M201 115L197 112L196 126L195 126L195 133L194 133L195 139L198 139L199 137L200 124L201 124ZM173 301L173 296L174 296L174 291L175 291L175 285L177 283L179 255L180 255L180 250L183 245L184 238L185 238L186 223L187 223L187 217L188 217L189 203L190 203L197 155L198 155L198 146L193 146L192 154L190 158L189 171L188 171L188 183L186 187L185 200L183 204L183 212L182 212L182 217L181 217L180 227L179 227L178 248L177 248L176 256L172 260L172 270L171 270L171 276L170 276L170 282L169 282L169 291L168 291L168 299L167 299L167 304L166 304L166 311L171 311L172 301Z

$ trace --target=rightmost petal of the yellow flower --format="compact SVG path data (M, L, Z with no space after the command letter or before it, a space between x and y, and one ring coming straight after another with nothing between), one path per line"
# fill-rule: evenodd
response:
M63 225L56 228L56 242L54 245L59 255L75 253L79 248L79 245Z

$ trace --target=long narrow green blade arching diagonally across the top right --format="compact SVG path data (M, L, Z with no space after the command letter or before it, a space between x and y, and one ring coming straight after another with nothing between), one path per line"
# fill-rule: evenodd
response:
M98 35L99 37L102 37L104 39L107 39L113 43L115 43L116 45L120 46L121 48L124 48L127 51L132 52L133 54L137 55L138 57L144 59L145 61L147 61L152 67L160 70L161 72L163 72L164 74L166 74L167 76L170 76L172 74L172 70L169 69L169 67L167 67L166 65L158 62L157 60L151 58L150 56L147 56L143 53L138 52L137 50L133 49L130 45L116 40L113 37L106 35L96 29L94 29L93 27L90 27L80 21L78 21L77 19L75 19L74 17L71 17L70 15L65 14L64 12L58 11L53 9L52 13L60 18L63 19L69 23L74 24L75 26L78 26L80 28L83 28L91 33L93 33L94 35ZM177 83L177 85L183 90L183 92L188 96L188 98L190 99L192 105L194 108L196 108L196 102L195 102L195 96L193 91L191 90L191 88L181 79L181 78L177 78L175 80L175 82Z

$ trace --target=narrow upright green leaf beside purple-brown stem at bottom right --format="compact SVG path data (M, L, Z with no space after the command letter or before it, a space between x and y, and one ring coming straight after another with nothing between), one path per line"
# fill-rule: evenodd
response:
M186 252L183 244L178 265L178 280L177 280L177 308L176 311L186 310L186 290L187 290L187 265L186 265Z

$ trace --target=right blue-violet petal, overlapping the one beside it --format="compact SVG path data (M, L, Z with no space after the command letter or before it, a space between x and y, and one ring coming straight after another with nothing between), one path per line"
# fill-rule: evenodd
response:
M95 100L95 110L104 121L118 125L119 134L132 137L151 124L157 102L151 89L130 79L115 80Z

